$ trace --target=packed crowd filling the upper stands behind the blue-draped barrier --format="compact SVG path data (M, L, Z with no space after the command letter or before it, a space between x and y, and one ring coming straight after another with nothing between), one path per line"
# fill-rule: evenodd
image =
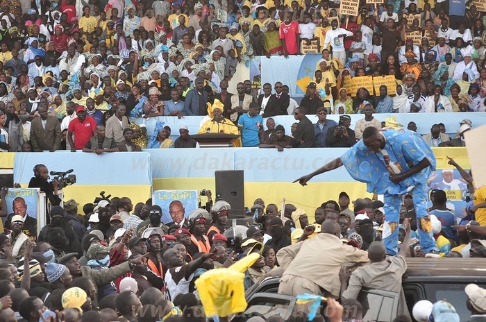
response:
M345 126L326 139L322 121L324 139L310 139L296 116L294 139L271 139L262 119L485 111L485 15L471 1L449 2L361 1L358 16L345 16L328 0L9 1L0 12L0 151L193 147L183 125L174 142L163 122L153 133L135 122L192 115L206 116L199 133L241 132L235 146L348 146L360 133ZM322 58L301 101L289 96L294 84L233 79L251 60L309 44ZM351 91L360 76L394 80ZM367 116L360 129L370 125L378 121Z

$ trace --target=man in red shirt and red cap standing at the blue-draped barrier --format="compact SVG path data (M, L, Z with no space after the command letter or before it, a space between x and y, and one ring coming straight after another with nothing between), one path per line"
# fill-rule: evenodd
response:
M76 108L76 119L72 119L67 127L67 141L71 146L71 152L76 152L76 150L83 150L94 131L97 128L97 121L92 117L86 116L86 110L83 106L78 105ZM72 136L74 134L74 142Z

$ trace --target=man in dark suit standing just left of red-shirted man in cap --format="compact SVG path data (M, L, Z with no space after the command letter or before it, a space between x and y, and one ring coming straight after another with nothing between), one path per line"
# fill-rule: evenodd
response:
M46 106L40 106L38 112L40 117L33 119L31 124L32 151L59 150L62 136L58 118L47 116Z

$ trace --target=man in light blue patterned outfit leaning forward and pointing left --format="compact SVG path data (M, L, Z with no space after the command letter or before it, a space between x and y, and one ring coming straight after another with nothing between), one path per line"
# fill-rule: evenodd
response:
M306 185L318 174L344 165L349 174L367 184L367 191L385 195L383 242L389 255L398 253L401 195L413 197L421 250L436 252L432 224L427 213L427 180L435 170L435 156L424 139L410 130L373 127L363 131L363 139L341 158L294 182Z

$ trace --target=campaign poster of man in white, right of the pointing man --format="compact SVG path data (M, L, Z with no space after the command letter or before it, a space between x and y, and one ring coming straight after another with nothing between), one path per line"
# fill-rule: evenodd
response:
M468 171L468 170L466 170ZM428 179L429 196L433 189L444 190L447 196L447 209L451 210L456 218L466 216L467 198L469 190L466 181L457 169L435 170ZM469 196L472 200L472 196ZM429 205L432 203L429 201Z

